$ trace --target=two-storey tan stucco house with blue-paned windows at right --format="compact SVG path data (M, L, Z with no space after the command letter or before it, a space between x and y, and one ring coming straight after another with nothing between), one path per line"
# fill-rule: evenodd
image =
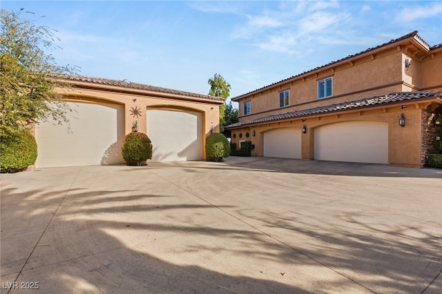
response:
M411 32L244 95L253 156L423 166L442 113L442 44Z

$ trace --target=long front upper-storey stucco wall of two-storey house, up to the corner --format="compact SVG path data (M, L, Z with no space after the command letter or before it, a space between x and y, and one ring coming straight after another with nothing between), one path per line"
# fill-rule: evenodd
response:
M318 72L317 76L309 75L305 79L265 90L254 97L240 99L240 121L403 91L402 58L403 54L396 52L373 60L347 63ZM318 99L318 80L326 77L333 79L333 97ZM282 90L289 90L290 97L289 106L280 108L279 92ZM251 115L241 117L244 101L251 101Z

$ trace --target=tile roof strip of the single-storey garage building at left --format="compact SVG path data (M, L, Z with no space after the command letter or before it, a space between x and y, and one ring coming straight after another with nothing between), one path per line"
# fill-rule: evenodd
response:
M202 94L180 91L180 90L173 90L173 89L169 89L169 88L162 88L162 87L150 86L150 85L145 85L145 84L138 84L138 83L133 83L131 81L126 81L126 80L122 81L122 80L117 80L117 79L84 77L81 75L61 75L60 78L66 79L68 81L81 81L81 82L86 82L86 83L90 83L90 84L115 86L115 87L122 87L122 88L135 89L135 90L146 90L146 91L151 91L151 92L159 92L159 93L166 93L166 94L172 94L172 95L181 95L181 96L186 96L186 97L195 97L195 98L202 98L202 99L211 99L211 100L216 100L216 101L224 101L224 99L222 99L220 97L202 95Z

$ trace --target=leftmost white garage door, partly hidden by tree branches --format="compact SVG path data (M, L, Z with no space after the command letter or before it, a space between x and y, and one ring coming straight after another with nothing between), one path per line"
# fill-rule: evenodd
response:
M52 121L35 126L37 168L122 164L124 108L68 102L70 128Z

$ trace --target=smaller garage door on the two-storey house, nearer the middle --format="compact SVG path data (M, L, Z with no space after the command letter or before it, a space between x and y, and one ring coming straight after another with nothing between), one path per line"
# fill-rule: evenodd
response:
M301 158L301 131L294 128L277 128L264 133L264 156Z

